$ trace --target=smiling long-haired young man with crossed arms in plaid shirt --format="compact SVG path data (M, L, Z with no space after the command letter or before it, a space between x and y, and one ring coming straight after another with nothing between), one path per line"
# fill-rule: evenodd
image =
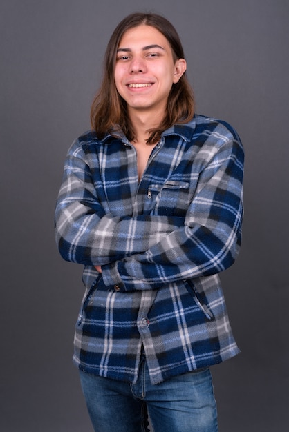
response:
M218 273L239 252L243 148L194 115L174 27L115 29L93 131L68 151L56 208L64 259L84 264L73 360L95 431L216 432L209 366L237 353Z

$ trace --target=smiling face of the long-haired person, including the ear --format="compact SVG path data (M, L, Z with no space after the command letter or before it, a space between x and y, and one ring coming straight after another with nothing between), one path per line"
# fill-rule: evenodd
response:
M174 61L169 42L156 28L138 26L120 40L115 63L115 86L135 111L163 115L171 86L186 69L184 59Z

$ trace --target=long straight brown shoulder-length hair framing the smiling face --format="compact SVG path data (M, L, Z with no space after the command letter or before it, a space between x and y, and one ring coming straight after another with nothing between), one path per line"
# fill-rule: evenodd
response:
M124 18L115 28L107 45L104 55L102 84L91 106L91 126L99 138L104 137L107 132L112 132L115 128L122 130L130 141L135 138L127 113L127 103L118 94L115 86L114 72L117 50L124 32L142 24L156 28L167 38L174 61L185 58L176 29L161 15L137 12ZM158 141L164 130L176 123L187 123L192 117L194 117L194 96L184 73L179 81L171 87L162 122L158 128L148 130L147 143Z

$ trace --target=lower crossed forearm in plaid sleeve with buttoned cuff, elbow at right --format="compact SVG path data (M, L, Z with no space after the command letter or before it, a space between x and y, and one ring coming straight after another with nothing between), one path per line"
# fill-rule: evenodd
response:
M104 282L107 286L118 285L122 291L133 291L214 275L234 263L240 244L239 227L229 237L225 232L218 237L201 226L180 228L146 253L104 266Z

